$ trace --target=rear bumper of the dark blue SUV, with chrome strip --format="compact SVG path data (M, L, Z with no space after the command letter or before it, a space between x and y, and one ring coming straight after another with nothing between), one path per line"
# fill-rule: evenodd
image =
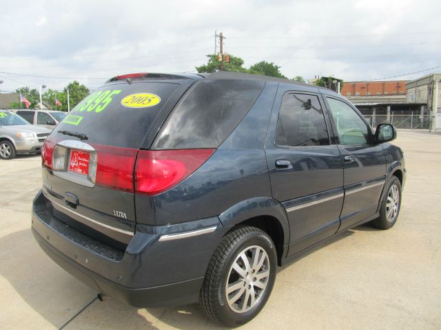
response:
M182 223L137 227L132 241L121 251L54 217L52 204L41 191L32 212L32 232L48 256L97 292L134 307L197 302L209 260L227 230L217 218L197 222L205 222L207 228L215 224L216 230L181 238L185 233ZM178 232L170 233L175 227Z

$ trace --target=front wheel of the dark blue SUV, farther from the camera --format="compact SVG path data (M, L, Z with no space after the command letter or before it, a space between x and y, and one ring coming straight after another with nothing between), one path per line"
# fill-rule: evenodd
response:
M378 229L389 229L395 225L401 208L401 184L398 177L391 177L380 206L380 217L372 221Z

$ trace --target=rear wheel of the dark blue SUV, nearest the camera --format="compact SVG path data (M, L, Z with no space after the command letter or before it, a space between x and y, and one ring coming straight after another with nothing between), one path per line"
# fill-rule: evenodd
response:
M266 232L239 227L227 234L209 263L199 306L227 327L252 320L276 281L276 248Z

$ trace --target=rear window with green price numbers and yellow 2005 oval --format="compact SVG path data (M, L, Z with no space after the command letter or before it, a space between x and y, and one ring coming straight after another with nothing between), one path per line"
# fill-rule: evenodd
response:
M58 131L83 133L87 143L139 148L145 134L177 83L134 82L100 87L63 118L53 135L57 140L70 136Z

